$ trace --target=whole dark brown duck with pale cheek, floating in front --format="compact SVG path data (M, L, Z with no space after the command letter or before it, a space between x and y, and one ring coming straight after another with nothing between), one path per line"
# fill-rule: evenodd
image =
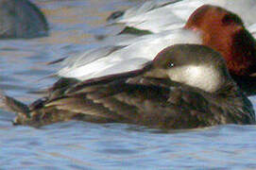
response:
M15 125L32 127L70 120L165 129L255 124L225 59L200 44L175 44L140 70L58 89L30 106L1 94L1 105L16 112Z

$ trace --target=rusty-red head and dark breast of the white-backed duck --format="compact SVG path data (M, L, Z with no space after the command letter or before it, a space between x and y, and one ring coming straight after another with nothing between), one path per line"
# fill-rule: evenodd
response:
M203 44L226 59L231 75L255 75L255 40L236 14L224 8L204 5L196 9L184 28L199 31Z

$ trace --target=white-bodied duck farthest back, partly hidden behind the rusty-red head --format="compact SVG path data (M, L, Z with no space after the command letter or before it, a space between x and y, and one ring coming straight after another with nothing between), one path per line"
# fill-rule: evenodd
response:
M125 24L129 28L159 33L184 26L189 16L203 5L226 8L237 13L246 26L256 23L255 0L150 0L143 5L116 11L109 16L109 24ZM138 31L137 31L138 32Z

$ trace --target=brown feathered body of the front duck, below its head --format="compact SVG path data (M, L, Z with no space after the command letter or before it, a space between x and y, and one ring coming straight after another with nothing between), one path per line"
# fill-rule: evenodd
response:
M42 126L76 119L192 128L245 122L245 116L239 112L243 111L239 97L237 107L229 107L215 100L212 94L174 84L169 80L140 76L79 83L71 91L67 89L58 97L39 102L38 107L30 107L30 118L21 119L20 124ZM19 123L19 117L16 122Z

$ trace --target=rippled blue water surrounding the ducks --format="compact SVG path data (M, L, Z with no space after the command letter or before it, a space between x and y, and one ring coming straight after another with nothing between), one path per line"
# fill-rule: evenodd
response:
M101 45L95 39L122 26L105 27L128 0L34 0L46 14L50 37L0 41L0 89L30 103L50 86L54 59ZM255 97L250 98L256 108ZM124 124L68 122L14 127L1 110L0 169L256 169L256 127L219 126L161 131Z

